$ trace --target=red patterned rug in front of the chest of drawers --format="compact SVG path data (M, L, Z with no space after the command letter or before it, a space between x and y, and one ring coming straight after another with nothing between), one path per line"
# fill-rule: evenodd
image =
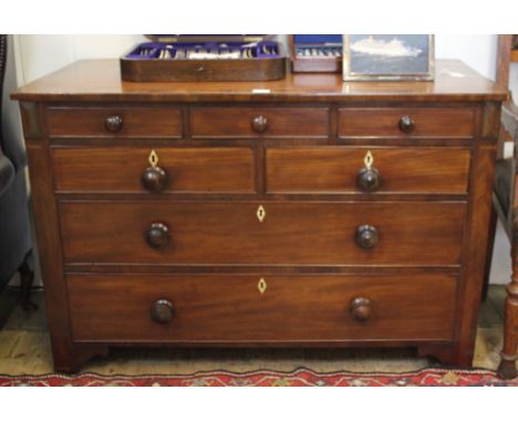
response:
M0 387L518 387L486 369L426 368L406 373L318 373L307 368L292 372L260 370L196 372L183 376L0 376Z

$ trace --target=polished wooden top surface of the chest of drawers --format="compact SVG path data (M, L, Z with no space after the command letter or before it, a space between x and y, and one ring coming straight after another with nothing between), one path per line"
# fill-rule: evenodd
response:
M80 61L19 88L27 102L478 102L507 92L458 61L439 60L435 82L343 83L335 74L288 74L272 82L131 83L116 60Z

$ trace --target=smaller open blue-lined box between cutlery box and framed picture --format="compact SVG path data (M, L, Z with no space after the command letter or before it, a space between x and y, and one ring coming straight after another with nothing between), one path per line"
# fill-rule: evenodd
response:
M290 35L293 73L341 73L342 35Z

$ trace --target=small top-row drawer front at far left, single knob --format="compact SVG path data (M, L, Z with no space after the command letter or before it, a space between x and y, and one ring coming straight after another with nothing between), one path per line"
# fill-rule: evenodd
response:
M51 137L182 137L179 108L66 107L46 110Z

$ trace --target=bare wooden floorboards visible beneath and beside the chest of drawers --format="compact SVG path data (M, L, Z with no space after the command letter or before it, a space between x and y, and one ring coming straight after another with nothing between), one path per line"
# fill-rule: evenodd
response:
M17 307L0 331L0 373L41 374L53 371L42 295L37 292L33 297L40 305L39 310L27 314ZM504 286L495 285L489 288L488 298L480 312L475 351L476 367L496 369L498 366L504 298ZM411 371L429 365L436 363L416 358L413 350L401 349L115 349L108 358L92 360L83 370L106 374L172 374L218 369L238 372L258 369L291 371L307 367L315 371L387 372Z

